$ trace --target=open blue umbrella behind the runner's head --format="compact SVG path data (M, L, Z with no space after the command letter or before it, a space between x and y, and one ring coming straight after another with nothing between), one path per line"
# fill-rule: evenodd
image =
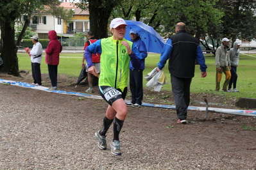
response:
M164 38L162 38L153 27L148 26L141 21L125 20L125 22L128 25L124 36L126 40L131 40L130 30L136 29L141 36L141 40L145 43L148 52L162 52L166 42L164 42Z

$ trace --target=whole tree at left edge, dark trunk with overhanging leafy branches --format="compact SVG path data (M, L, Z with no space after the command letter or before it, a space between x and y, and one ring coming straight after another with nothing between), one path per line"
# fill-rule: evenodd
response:
M0 3L0 26L1 26L1 57L4 64L0 66L0 72L19 76L19 65L17 59L17 46L21 43L22 37L30 24L32 13L40 13L48 6L55 13L58 12L58 0L4 0ZM15 22L21 15L28 15L22 31L15 44ZM54 15L54 14L53 14ZM60 15L58 15L60 16Z

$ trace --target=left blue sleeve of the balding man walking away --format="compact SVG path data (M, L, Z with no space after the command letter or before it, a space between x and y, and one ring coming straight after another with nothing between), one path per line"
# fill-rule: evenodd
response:
M171 42L171 39L169 38L164 45L164 49L162 49L162 54L160 56L160 61L158 62L158 68L162 70L164 68L164 65L166 65L167 59L171 57L171 52L173 50L173 44Z

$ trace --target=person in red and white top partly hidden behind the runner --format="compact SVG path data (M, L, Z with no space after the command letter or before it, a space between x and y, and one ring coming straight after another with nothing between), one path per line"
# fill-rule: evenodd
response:
M87 42L85 42L85 47L83 50L86 49L87 46L89 46L90 44L94 43L97 41L97 39L94 38L94 34L92 33L92 31L89 31L87 33L87 38L89 39ZM94 64L94 66L96 67L97 73L99 75L99 73L101 72L101 65L100 65L100 54L96 53L96 54L92 54L92 63ZM85 67L85 58L83 57L83 61L81 63L82 68ZM87 77L88 77L88 84L89 84L89 89L87 89L85 92L87 93L93 93L94 89L93 89L93 84L92 84L92 74L88 72L88 66L86 66L86 72L87 72Z

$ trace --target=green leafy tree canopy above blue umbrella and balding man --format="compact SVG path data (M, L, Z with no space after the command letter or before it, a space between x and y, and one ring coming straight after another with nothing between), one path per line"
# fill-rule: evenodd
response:
M201 34L207 33L208 24L221 23L223 13L215 8L216 1L129 0L116 6L112 15L140 20L166 38L175 33L177 22L184 22L188 33L200 39Z

